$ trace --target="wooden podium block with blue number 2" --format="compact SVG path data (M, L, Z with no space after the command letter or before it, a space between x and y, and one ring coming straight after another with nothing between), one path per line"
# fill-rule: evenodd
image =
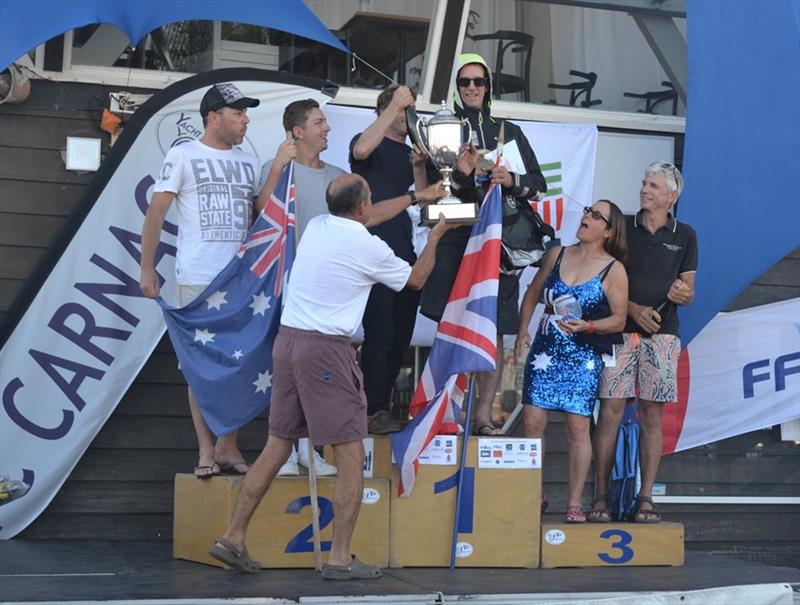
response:
M333 477L317 480L323 562L333 538ZM199 481L191 474L175 476L172 554L178 559L222 567L208 556L214 540L227 529L243 479L220 476ZM253 514L247 549L264 567L313 568L311 497L307 477L276 479ZM352 549L372 565L389 562L390 487L386 479L365 479L361 511Z

